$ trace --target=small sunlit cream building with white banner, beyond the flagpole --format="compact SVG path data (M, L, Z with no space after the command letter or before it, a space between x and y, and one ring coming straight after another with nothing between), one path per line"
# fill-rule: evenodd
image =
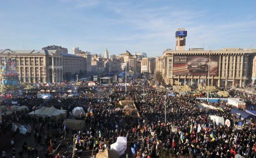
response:
M156 69L156 61L154 57L143 57L141 61L141 72L153 74Z

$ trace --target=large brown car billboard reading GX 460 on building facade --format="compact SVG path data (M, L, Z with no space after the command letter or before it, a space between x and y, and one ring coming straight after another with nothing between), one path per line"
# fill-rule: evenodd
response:
M210 56L209 64L207 55L177 55L174 56L173 75L210 75L216 76L218 69L218 56Z

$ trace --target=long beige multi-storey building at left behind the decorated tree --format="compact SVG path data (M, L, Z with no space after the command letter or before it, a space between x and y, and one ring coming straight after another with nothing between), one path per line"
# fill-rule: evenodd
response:
M21 82L58 82L86 69L84 57L55 50L0 50L0 58L10 55L17 58L17 72Z

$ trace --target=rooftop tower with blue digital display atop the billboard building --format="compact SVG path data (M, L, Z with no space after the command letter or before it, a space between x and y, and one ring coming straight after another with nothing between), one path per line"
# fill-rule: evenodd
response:
M185 50L187 31L185 28L178 28L176 37L176 50Z

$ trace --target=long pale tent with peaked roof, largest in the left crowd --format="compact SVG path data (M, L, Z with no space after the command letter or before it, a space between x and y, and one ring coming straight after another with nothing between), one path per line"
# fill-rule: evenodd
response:
M54 119L61 119L66 118L67 116L67 110L64 109L57 109L55 107L41 107L40 109L37 109L35 111L32 111L29 113L31 116L50 116Z

